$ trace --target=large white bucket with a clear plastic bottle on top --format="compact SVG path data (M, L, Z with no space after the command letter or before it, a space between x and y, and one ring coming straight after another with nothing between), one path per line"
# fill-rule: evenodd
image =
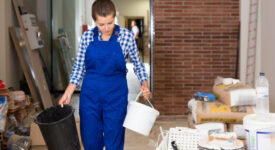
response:
M275 150L275 114L247 115L243 119L248 150Z

